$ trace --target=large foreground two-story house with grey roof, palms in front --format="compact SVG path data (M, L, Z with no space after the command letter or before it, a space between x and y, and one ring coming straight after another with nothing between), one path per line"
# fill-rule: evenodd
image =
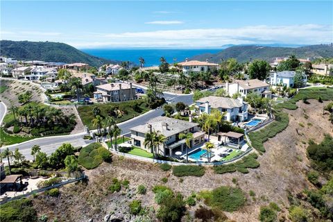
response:
M157 153L160 155L171 156L177 151L186 151L185 139L180 139L180 133L193 133L191 139L191 148L205 142L205 133L199 131L198 123L173 119L169 117L156 117L150 119L147 123L130 128L132 144L151 153L151 148L144 146L146 133L160 131L167 137L162 146L157 147Z

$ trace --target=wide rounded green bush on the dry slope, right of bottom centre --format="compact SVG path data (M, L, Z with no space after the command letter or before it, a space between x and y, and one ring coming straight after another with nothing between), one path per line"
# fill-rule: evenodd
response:
M205 203L219 210L233 212L242 207L245 203L245 196L240 188L218 187L213 191L200 192L200 196L205 198Z

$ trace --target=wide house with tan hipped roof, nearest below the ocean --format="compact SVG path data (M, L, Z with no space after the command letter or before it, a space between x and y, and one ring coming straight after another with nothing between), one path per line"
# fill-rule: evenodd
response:
M219 64L208 62L208 60L206 60L205 62L201 62L197 60L189 61L186 59L185 62L179 62L178 65L182 67L182 72L185 74L191 71L210 71L219 67Z

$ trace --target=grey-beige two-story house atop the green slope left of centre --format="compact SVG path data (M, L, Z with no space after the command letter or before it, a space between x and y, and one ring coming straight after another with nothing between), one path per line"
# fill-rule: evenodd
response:
M97 85L94 92L94 99L101 102L120 102L137 99L136 87L132 83L108 83Z

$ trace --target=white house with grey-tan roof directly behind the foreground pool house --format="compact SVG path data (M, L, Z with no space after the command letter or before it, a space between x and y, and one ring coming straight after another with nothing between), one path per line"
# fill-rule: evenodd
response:
M243 98L232 99L221 96L207 96L196 101L200 113L210 114L212 109L217 109L220 112L225 112L223 117L226 121L246 121L248 119L248 103L243 101Z

